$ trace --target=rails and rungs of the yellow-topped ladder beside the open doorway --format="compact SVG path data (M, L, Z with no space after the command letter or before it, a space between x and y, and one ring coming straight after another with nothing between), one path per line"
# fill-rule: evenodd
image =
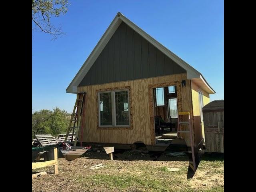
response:
M180 119L182 118L184 120L183 117L181 116L185 116L187 115L188 116L188 121L180 121ZM189 130L183 130L181 131L180 130L180 125L188 125L188 128ZM192 170L194 171L194 173L196 172L196 159L195 159L195 153L194 153L194 132L192 130L192 122L191 122L191 119L190 119L190 114L189 112L179 112L178 113L178 130L177 130L177 138L180 138L180 133L189 133L190 135L190 140L186 140L186 144L188 146L188 141L190 142L190 146L191 146L191 151L189 150L188 153L192 154L192 161L191 159L189 160L189 166L192 168Z

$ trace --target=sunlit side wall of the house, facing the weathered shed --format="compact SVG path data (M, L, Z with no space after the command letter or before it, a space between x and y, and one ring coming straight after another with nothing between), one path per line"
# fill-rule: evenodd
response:
M205 139L204 135L204 122L201 124L201 116L200 116L200 105L199 105L199 94L198 91L202 92L203 94L203 105L205 106L210 102L210 95L199 88L193 81L191 81L191 93L192 93L192 106L193 106L193 123L194 123L194 130L195 140L198 144L202 138Z

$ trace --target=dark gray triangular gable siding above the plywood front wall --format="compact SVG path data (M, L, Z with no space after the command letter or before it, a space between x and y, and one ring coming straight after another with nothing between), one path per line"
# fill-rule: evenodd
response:
M186 73L124 22L79 86Z

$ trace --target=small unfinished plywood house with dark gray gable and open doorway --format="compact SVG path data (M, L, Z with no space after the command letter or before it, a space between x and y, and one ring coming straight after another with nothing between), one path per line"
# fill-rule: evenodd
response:
M178 112L190 112L198 148L204 144L202 107L215 94L200 72L120 12L66 91L86 93L79 142L156 146L164 134L175 135L168 125ZM160 135L156 116L167 125Z

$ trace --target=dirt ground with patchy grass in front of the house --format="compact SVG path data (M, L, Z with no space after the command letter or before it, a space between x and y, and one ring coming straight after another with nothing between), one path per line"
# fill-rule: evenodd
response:
M90 166L105 167L90 170ZM178 172L167 168L180 168ZM53 167L33 170L48 174L32 178L33 192L168 192L224 191L223 155L204 154L193 178L188 179L188 157L169 157L166 154L145 154L130 150L116 151L108 160L104 151L88 152L73 161L59 156L58 174ZM32 173L34 173L32 172Z

